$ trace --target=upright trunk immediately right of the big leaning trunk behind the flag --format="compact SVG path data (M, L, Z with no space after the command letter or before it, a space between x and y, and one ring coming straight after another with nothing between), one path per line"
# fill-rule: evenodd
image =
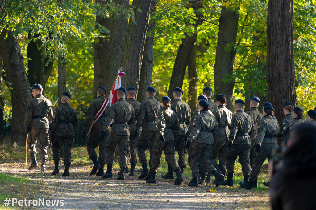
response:
M151 15L155 15L155 6L157 1L153 1L151 5ZM151 75L153 73L154 60L154 35L148 34L155 28L155 22L149 22L147 29L147 36L145 39L144 53L142 59L142 66L140 69L139 87L137 93L137 101L141 102L146 99L146 89L151 85Z

